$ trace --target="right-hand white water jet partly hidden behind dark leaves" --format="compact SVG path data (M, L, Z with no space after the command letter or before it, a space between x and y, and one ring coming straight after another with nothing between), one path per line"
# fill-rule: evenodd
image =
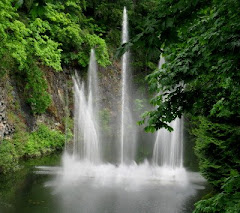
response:
M158 64L160 69L165 63L161 56ZM172 169L183 167L183 119L176 118L169 124L173 131L166 129L157 131L153 149L153 164Z

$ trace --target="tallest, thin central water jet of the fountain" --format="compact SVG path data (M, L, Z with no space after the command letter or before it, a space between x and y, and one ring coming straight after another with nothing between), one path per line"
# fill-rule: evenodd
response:
M123 9L122 22L122 44L127 43L128 36L128 16L127 9ZM136 130L130 109L130 88L129 88L129 51L122 56L122 109L121 109L121 134L120 134L120 161L121 163L130 163L134 161L136 151Z

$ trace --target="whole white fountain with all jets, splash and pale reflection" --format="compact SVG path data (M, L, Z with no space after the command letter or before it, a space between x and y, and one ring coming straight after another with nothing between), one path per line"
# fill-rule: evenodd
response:
M128 41L127 10L123 12L122 43ZM160 66L164 63L161 58ZM135 163L136 132L130 108L129 52L122 58L122 105L119 140L120 164L104 163L98 124L97 65L91 51L87 87L76 74L74 83L73 154L63 155L61 167L38 167L39 174L56 174L45 184L53 189L57 208L51 212L186 212L186 204L203 189L204 179L187 172L182 162L183 122L176 119L174 132L159 130L153 164ZM115 128L114 128L115 129ZM115 156L114 156L115 157ZM31 198L32 199L32 198ZM55 202L52 202L55 203ZM54 206L55 207L55 206ZM188 210L187 212L191 212Z

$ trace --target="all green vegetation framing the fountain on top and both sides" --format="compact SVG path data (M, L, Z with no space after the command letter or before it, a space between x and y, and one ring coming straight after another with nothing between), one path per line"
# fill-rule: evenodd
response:
M56 72L86 67L93 47L98 63L108 65L120 43L123 6L129 9L132 39L116 55L131 47L139 73L155 69L160 54L166 60L147 77L158 95L152 99L156 110L144 114L146 130L171 130L168 123L185 114L196 137L200 170L214 186L195 212L237 212L239 0L1 0L0 77L18 76L32 113L44 113L51 98L43 67ZM16 143L20 138L25 142ZM7 171L20 157L40 155L63 141L44 126L26 137L15 135L11 143L0 144L0 168Z

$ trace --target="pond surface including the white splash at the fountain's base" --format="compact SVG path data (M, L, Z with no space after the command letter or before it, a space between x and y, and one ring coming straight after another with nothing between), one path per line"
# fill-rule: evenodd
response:
M141 165L93 165L65 156L37 167L1 213L190 213L206 193L198 173ZM7 204L9 205L9 204ZM3 209L1 209L3 208ZM2 210L2 211L1 211Z

